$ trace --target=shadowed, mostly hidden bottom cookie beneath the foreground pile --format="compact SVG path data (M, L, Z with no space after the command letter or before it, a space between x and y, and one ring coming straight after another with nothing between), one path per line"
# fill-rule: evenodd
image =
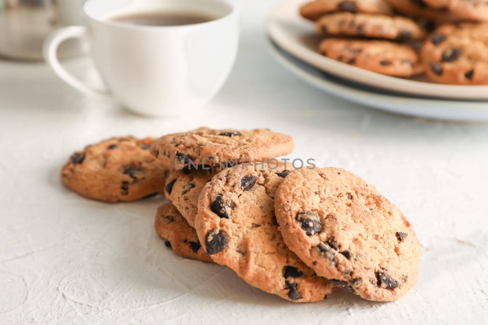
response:
M158 208L154 230L158 236L165 239L164 245L173 249L175 254L203 262L213 262L200 245L195 229L188 225L171 203L163 204Z

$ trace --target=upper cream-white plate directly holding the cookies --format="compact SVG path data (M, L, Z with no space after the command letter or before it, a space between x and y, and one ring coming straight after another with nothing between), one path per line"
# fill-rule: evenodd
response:
M385 76L324 57L317 52L321 38L314 34L314 24L299 15L307 0L285 0L269 15L268 36L286 52L330 74L404 94L439 98L488 100L488 86L455 86ZM423 81L422 81L423 80Z

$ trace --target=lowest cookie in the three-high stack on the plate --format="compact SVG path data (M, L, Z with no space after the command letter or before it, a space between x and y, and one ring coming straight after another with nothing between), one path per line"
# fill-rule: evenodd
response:
M389 76L421 74L424 67L413 47L388 40L326 38L319 52L331 59Z

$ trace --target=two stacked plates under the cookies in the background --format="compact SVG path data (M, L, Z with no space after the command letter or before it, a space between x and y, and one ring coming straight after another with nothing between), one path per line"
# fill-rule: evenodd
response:
M457 86L360 69L317 52L321 38L299 14L304 0L281 2L269 15L269 48L288 70L319 89L358 104L428 118L488 121L488 86Z

